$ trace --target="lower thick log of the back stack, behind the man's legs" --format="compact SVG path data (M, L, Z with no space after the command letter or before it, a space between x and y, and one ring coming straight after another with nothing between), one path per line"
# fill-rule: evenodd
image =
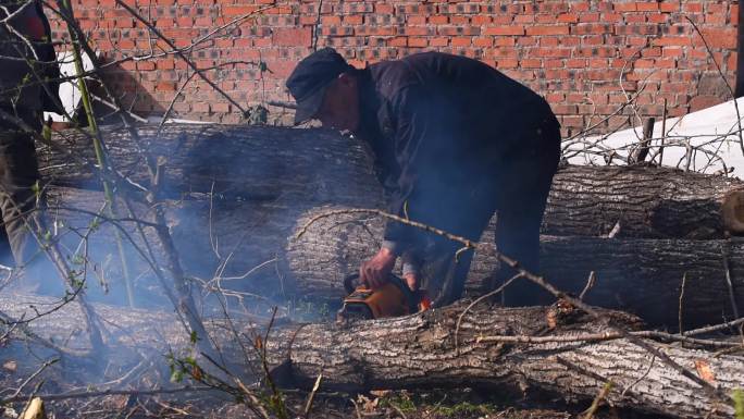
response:
M78 233L86 232L92 215L69 208L97 211L102 194L82 189L52 188L50 217ZM317 220L298 239L295 234L308 220L334 208L315 208L299 221L272 217L277 212L251 202L213 205L208 200L166 201L166 218L189 275L224 280L222 286L251 291L281 298L308 298L339 301L344 296L343 279L358 270L362 260L377 248L383 221L358 214L337 214ZM59 210L59 207L67 208ZM122 207L122 206L120 206ZM146 206L135 205L137 217L150 219ZM278 211L276 208L274 211ZM287 209L286 211L289 211ZM131 222L120 225L144 249L141 238ZM61 230L64 231L64 230ZM154 241L152 229L145 233ZM97 272L109 279L112 296L121 287L120 264L113 260L117 250L111 223L96 225L88 235L88 255L98 263ZM482 243L494 243L488 230ZM77 248L77 234L65 236L65 248ZM140 289L153 286L149 267L133 246L129 262ZM156 247L156 250L158 248ZM161 252L156 252L164 260ZM263 263L270 261L269 263ZM224 266L222 264L224 263ZM262 264L263 263L263 264ZM559 288L579 294L590 273L596 273L596 284L586 295L596 306L622 309L642 317L649 324L677 328L680 304L685 329L715 323L733 317L726 266L730 269L732 292L736 305L744 308L744 243L730 241L647 239L556 237L542 238L543 273ZM250 275L246 272L253 270ZM468 278L467 291L479 295L487 289L489 278L498 268L493 246L475 254ZM682 280L685 279L684 295ZM149 282L148 282L149 279ZM98 292L95 284L89 293ZM144 293L145 298L151 293Z

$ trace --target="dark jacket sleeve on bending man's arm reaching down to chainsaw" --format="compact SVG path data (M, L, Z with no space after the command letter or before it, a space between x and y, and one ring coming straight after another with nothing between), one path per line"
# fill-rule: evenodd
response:
M446 107L423 86L404 88L394 98L394 153L399 173L394 187L388 187L388 212L425 222L436 204L438 167L449 143L449 119ZM389 183L389 182L388 182ZM424 245L423 231L389 221L385 227L384 247L400 255Z

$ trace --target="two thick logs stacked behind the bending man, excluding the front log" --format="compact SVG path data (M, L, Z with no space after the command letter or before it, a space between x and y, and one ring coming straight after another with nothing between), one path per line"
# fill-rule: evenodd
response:
M191 274L241 275L243 288L337 300L342 279L376 249L383 221L339 214L319 220L300 239L295 234L327 210L381 208L382 192L362 144L322 130L169 125L156 139L140 130L135 146L123 131L107 133L111 160L134 182L147 184L145 148L165 159L170 227ZM90 153L87 139L59 141ZM40 148L41 171L62 202L96 209L102 201L89 170ZM646 167L566 167L556 175L543 224L543 273L579 293L590 272L591 304L629 310L652 324L675 326L681 301L686 326L732 317L744 304L741 245L726 238L719 208L740 181ZM142 213L147 209L140 207ZM66 214L69 223L89 220ZM493 225L492 225L493 227ZM493 243L493 229L482 238ZM607 235L612 232L613 237ZM110 234L97 248L110 249ZM96 238L94 238L95 241ZM108 247L107 247L108 246ZM108 250L107 250L108 251ZM481 293L496 269L493 252L475 255L468 289Z

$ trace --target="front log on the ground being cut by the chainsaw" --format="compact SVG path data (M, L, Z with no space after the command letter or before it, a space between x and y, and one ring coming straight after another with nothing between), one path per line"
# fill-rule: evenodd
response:
M15 317L23 312L33 316L27 306L30 301L37 306L49 303L3 294L0 310ZM263 344L270 366L276 367L275 379L283 385L310 387L322 374L321 389L325 391L479 386L501 392L528 387L568 400L591 400L611 381L607 399L613 406L665 416L720 418L733 412L726 395L744 386L744 359L739 356L642 340L717 386L723 395L717 399L711 392L627 340L505 345L487 338L575 338L605 331L602 322L580 312L565 313L556 325L547 320L555 319L548 316L555 312L554 308L504 309L483 303L462 316L458 330L463 308L464 305L450 306L417 316L351 324L277 322ZM159 359L154 355L158 352L190 354L188 335L171 313L106 306L97 306L97 311L111 332L113 362L123 362L124 349L132 348L148 354L153 361ZM623 326L638 325L628 315L600 312ZM85 336L74 333L78 318L76 306L69 305L29 326L44 337L84 347ZM234 334L225 332L224 320L213 319L207 324L224 352L224 359L245 359L245 348L239 347ZM232 324L245 345L252 345L251 336L263 333L246 319L234 318ZM13 356L8 348L3 354ZM250 354L253 352L248 350L247 355Z

